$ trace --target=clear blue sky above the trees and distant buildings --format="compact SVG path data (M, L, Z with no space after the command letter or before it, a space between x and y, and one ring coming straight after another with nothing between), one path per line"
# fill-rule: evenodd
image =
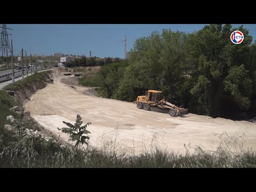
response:
M242 24L234 24L238 27ZM127 51L133 47L135 39L149 36L152 31L171 29L191 33L202 29L205 24L17 24L7 25L13 35L13 51L17 55L21 48L27 54L50 55L55 52L96 57L124 57L124 42L127 37ZM256 39L256 24L245 24L253 41Z

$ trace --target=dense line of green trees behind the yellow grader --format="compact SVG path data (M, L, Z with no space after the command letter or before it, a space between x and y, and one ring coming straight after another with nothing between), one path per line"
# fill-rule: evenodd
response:
M240 30L241 44L230 34ZM129 61L102 67L103 97L133 101L146 90L190 113L246 118L256 114L256 43L243 26L209 25L192 34L163 29L135 41Z

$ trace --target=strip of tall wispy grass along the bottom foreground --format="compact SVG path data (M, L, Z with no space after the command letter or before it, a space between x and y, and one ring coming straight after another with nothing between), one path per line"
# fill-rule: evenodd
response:
M75 149L61 146L56 139L46 141L40 137L19 137L3 142L0 135L1 167L256 167L256 154L252 150L203 151L178 154L153 148L139 155L116 154L107 149ZM18 137L18 136L15 136ZM54 141L55 140L55 141Z

